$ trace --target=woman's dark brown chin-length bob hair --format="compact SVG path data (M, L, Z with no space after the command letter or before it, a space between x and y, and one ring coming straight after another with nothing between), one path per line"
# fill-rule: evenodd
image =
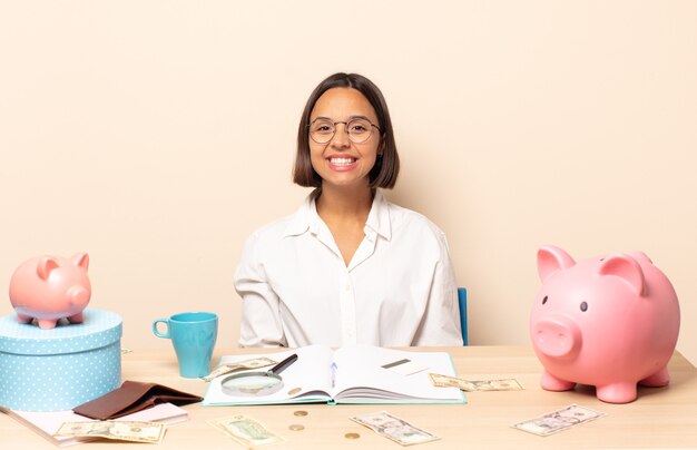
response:
M396 183L396 176L400 173L400 157L396 153L396 144L394 143L394 133L392 130L392 121L390 120L390 111L382 92L373 84L373 81L357 74L334 74L325 78L307 99L301 123L297 128L297 153L295 155L295 166L293 167L293 183L305 187L321 187L322 178L320 174L312 167L310 159L310 115L324 92L333 88L352 88L361 94L371 104L377 115L377 126L380 126L380 146L377 147L379 156L375 166L369 174L372 188L385 187L392 188Z

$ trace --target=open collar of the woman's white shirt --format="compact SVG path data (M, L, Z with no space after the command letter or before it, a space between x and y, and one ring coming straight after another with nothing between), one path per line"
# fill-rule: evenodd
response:
M317 214L315 198L315 192L305 197L305 202L303 202L301 207L292 216L291 222L285 229L284 236L297 236L307 231L313 234L318 233L323 222ZM392 238L390 206L380 190L375 192L373 205L371 206L371 212L369 213L367 221L365 222L365 228L366 234L369 234L369 231L372 231L387 241Z

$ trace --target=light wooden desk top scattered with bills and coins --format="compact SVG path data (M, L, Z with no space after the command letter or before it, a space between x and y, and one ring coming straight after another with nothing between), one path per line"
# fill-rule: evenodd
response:
M415 350L415 349L414 349ZM508 392L470 392L468 404L445 405L272 405L272 407L184 407L190 420L171 425L158 449L240 448L214 429L207 421L244 413L268 425L287 439L269 449L399 449L400 446L363 428L348 418L372 411L387 410L442 439L423 444L424 449L501 448L501 449L589 449L589 448L697 448L697 369L681 354L670 360L671 382L668 388L640 388L639 399L628 404L609 404L596 399L595 390L581 388L571 392L548 392L539 387L542 366L529 348L467 346L423 349L448 351L458 374L464 378L516 378L526 390ZM224 349L223 354L262 353L259 350ZM204 394L206 384L178 376L174 351L136 350L122 358L124 380L156 381L192 393ZM512 423L533 419L570 403L606 412L599 420L546 438L511 428ZM294 411L305 410L306 417ZM302 431L288 425L303 424ZM344 438L347 432L360 439ZM109 448L129 446L92 442L75 448ZM143 447L145 449L145 447ZM0 448L55 449L42 437L0 414ZM148 447L150 448L150 447ZM421 447L419 447L421 448Z

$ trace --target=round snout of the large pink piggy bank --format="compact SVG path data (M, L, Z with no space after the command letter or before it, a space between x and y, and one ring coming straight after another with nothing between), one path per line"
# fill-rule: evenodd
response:
M581 348L582 335L578 325L569 319L544 317L532 326L534 346L552 358L575 356Z

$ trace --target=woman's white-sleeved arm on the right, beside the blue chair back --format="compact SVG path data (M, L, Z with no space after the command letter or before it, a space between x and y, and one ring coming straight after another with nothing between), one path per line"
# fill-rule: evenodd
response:
M433 271L429 303L412 345L462 345L458 285L445 235L436 231L440 256Z

